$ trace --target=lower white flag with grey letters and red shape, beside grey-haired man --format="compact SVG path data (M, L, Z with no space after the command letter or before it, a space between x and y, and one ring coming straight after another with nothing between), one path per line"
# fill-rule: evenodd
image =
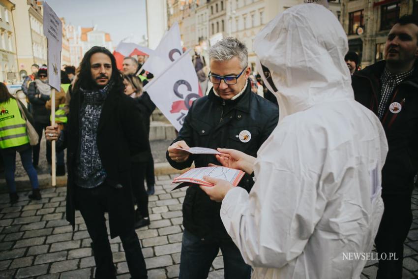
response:
M186 51L144 87L154 104L178 131L192 102L203 96L189 52Z

